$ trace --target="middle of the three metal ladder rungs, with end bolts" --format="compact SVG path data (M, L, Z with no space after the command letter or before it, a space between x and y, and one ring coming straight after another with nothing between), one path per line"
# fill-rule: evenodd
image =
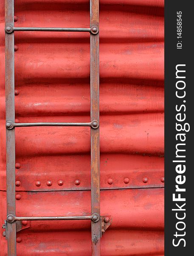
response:
M12 121L6 122L6 128L8 130L13 129L14 127L32 127L32 126L89 126L93 129L98 128L99 122L93 120L91 122L34 122L34 123L15 123Z

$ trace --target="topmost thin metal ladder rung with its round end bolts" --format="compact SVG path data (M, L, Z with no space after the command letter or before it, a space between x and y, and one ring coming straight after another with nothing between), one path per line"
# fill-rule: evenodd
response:
M5 31L11 34L14 31L48 31L48 32L90 32L92 34L98 33L98 27L92 26L91 28L42 28L42 27L14 27L7 25Z

